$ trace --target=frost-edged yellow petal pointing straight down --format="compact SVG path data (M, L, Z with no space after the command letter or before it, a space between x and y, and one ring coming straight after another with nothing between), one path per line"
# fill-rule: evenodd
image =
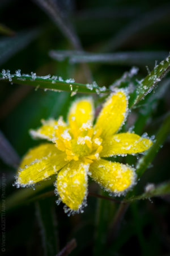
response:
M80 209L86 199L88 167L89 164L73 160L58 173L57 193L71 210Z

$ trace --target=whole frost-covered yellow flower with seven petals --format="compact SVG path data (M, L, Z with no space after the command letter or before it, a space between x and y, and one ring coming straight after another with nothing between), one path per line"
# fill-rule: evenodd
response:
M16 185L26 187L57 174L59 200L68 209L82 209L87 196L87 175L114 195L124 195L135 184L134 168L103 159L114 155L135 154L147 150L152 141L134 133L119 133L128 114L124 90L117 90L105 102L94 121L92 98L80 98L70 108L67 122L42 121L31 131L34 138L49 142L32 148L24 156Z

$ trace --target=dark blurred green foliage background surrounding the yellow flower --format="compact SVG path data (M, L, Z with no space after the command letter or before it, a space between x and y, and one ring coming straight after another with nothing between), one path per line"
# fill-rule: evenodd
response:
M80 92L85 88L82 93L96 81L107 88L102 94L92 89L97 113L111 89L128 87L131 112L122 130L156 135L146 155L111 159L137 167L138 184L125 199L114 200L89 180L88 206L68 217L55 203L55 177L35 190L12 183L19 158L40 143L29 137L29 129L40 126L42 118L66 118L71 102L82 94L69 86L69 92L41 89L48 79L29 82L32 75L25 85L17 76L0 80L2 255L170 255L169 1L2 0L0 15L0 73L21 69L74 78ZM131 65L138 73L129 71ZM64 90L61 85L50 80L50 88ZM75 249L68 243L73 238Z

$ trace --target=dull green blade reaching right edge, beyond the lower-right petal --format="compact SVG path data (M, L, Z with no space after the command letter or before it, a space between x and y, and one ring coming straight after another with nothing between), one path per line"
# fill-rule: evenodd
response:
M141 199L150 199L151 197L156 196L164 196L170 194L170 181L159 184L156 187L151 187L151 189L148 189L145 193L139 196L132 196L129 199L126 199L128 202L141 200Z

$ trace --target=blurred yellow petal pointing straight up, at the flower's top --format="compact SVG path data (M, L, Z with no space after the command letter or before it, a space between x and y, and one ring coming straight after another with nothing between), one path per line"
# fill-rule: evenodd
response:
M75 130L90 121L94 121L94 102L92 98L80 98L73 102L67 117L71 131L75 134Z

